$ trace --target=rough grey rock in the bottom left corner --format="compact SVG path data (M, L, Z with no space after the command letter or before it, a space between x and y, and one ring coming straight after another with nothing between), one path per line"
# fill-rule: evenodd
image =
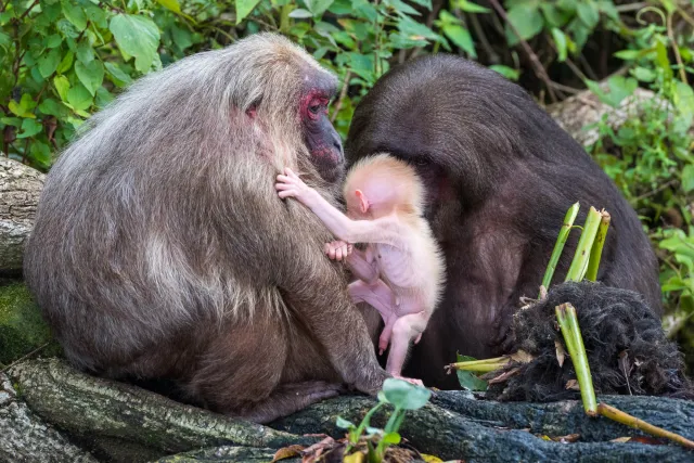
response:
M97 462L61 433L42 422L16 398L7 375L0 373L0 461Z

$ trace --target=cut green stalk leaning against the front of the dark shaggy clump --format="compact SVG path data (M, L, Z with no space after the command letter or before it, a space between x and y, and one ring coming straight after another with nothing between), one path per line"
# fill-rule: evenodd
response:
M580 327L578 326L576 309L566 303L556 306L554 310L556 311L556 319L560 322L560 329L562 330L568 355L571 357L571 362L574 363L578 386L581 389L583 410L586 410L586 413L590 416L594 416L597 413L597 400L595 399L583 338Z

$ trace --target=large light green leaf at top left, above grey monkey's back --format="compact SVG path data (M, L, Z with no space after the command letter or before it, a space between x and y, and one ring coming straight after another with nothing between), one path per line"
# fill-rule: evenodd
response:
M118 48L129 56L134 56L134 67L146 73L152 67L159 46L159 29L156 24L144 16L116 14L111 20L110 30L116 38Z

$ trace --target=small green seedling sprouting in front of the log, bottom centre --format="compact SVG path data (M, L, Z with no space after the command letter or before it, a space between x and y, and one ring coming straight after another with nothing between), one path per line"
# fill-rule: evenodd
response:
M337 416L337 427L342 427L348 432L347 440L349 443L345 449L345 454L349 454L361 439L361 436L365 434L367 437L369 437L367 441L369 462L382 462L386 449L391 445L400 443L398 429L404 420L406 412L408 410L421 409L428 402L430 397L432 391L424 387L415 386L402 380L386 380L383 383L383 389L378 393L378 403L369 410L361 423L359 423L359 426L342 416ZM388 419L386 426L383 429L370 426L371 417L386 403L395 407L395 411ZM375 448L372 443L374 440L378 442Z

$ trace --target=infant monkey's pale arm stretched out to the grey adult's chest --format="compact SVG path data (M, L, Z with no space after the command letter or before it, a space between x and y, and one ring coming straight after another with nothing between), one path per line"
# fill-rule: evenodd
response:
M314 189L308 187L291 169L286 169L286 176L278 176L275 189L279 196L295 197L325 224L339 240L347 243L382 243L394 247L401 247L399 234L394 232L395 220L382 218L376 220L351 220L333 207Z

